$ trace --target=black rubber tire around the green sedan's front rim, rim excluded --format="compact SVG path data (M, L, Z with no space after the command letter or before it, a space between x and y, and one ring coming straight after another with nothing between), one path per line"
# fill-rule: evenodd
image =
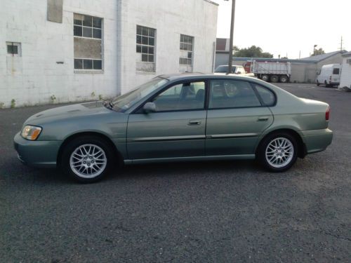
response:
M100 147L103 151L105 151L107 165L105 167L105 170L96 177L93 177L93 178L80 177L79 175L74 173L72 168L69 166L69 159L71 157L72 152L75 149L77 149L77 147L83 144L95 144L98 147ZM110 168L112 167L112 156L113 156L112 147L105 140L102 140L99 137L95 137L95 136L77 137L65 145L65 148L62 151L61 168L64 173L66 173L67 175L69 175L69 177L71 177L72 179L78 182L83 182L83 183L97 182L101 180L103 177L105 177L107 173L109 173Z

